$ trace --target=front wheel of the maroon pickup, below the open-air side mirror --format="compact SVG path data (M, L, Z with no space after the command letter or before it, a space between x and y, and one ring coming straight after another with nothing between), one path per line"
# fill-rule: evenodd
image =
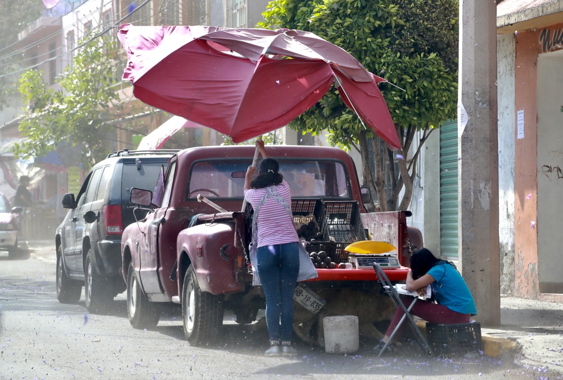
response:
M127 315L134 328L152 328L158 324L160 305L150 302L137 282L133 262L127 272Z

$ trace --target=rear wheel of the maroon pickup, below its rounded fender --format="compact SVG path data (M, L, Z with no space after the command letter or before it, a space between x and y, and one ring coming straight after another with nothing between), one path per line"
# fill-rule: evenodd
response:
M193 265L187 268L182 286L182 316L186 340L194 346L216 338L223 324L222 298L202 292Z

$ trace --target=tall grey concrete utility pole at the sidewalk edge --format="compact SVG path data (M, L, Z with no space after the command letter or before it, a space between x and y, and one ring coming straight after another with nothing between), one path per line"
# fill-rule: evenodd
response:
M459 263L482 325L501 323L496 3L459 4ZM458 114L460 114L458 110Z

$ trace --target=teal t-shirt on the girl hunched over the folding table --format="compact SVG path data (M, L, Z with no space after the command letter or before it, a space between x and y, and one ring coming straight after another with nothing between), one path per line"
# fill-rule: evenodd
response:
M461 274L450 264L440 263L428 270L435 279L431 283L436 301L461 314L477 315L473 296Z

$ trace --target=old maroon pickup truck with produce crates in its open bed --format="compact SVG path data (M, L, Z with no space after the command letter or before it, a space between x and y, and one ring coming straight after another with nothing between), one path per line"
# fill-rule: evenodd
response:
M422 246L419 233L409 241L407 212L366 214L362 197L366 200L369 191L360 188L345 151L311 146L267 150L291 188L296 228L315 230L312 236L301 228L303 240L309 241L307 251L325 251L334 263L345 263L344 247L375 237L397 247L403 266L386 270L390 280L406 278L409 254L415 245ZM154 327L163 302L181 305L184 332L194 345L216 337L225 310L233 310L238 323L256 320L265 300L261 287L252 286L248 260L252 208L241 211L244 174L253 156L254 146L189 148L169 160L162 192L155 194L158 200L150 191L132 189L131 201L150 209L122 238L122 275L133 327ZM377 284L373 269L333 266L319 265L319 277L296 289L294 298L311 313L326 301L315 289L373 289Z

